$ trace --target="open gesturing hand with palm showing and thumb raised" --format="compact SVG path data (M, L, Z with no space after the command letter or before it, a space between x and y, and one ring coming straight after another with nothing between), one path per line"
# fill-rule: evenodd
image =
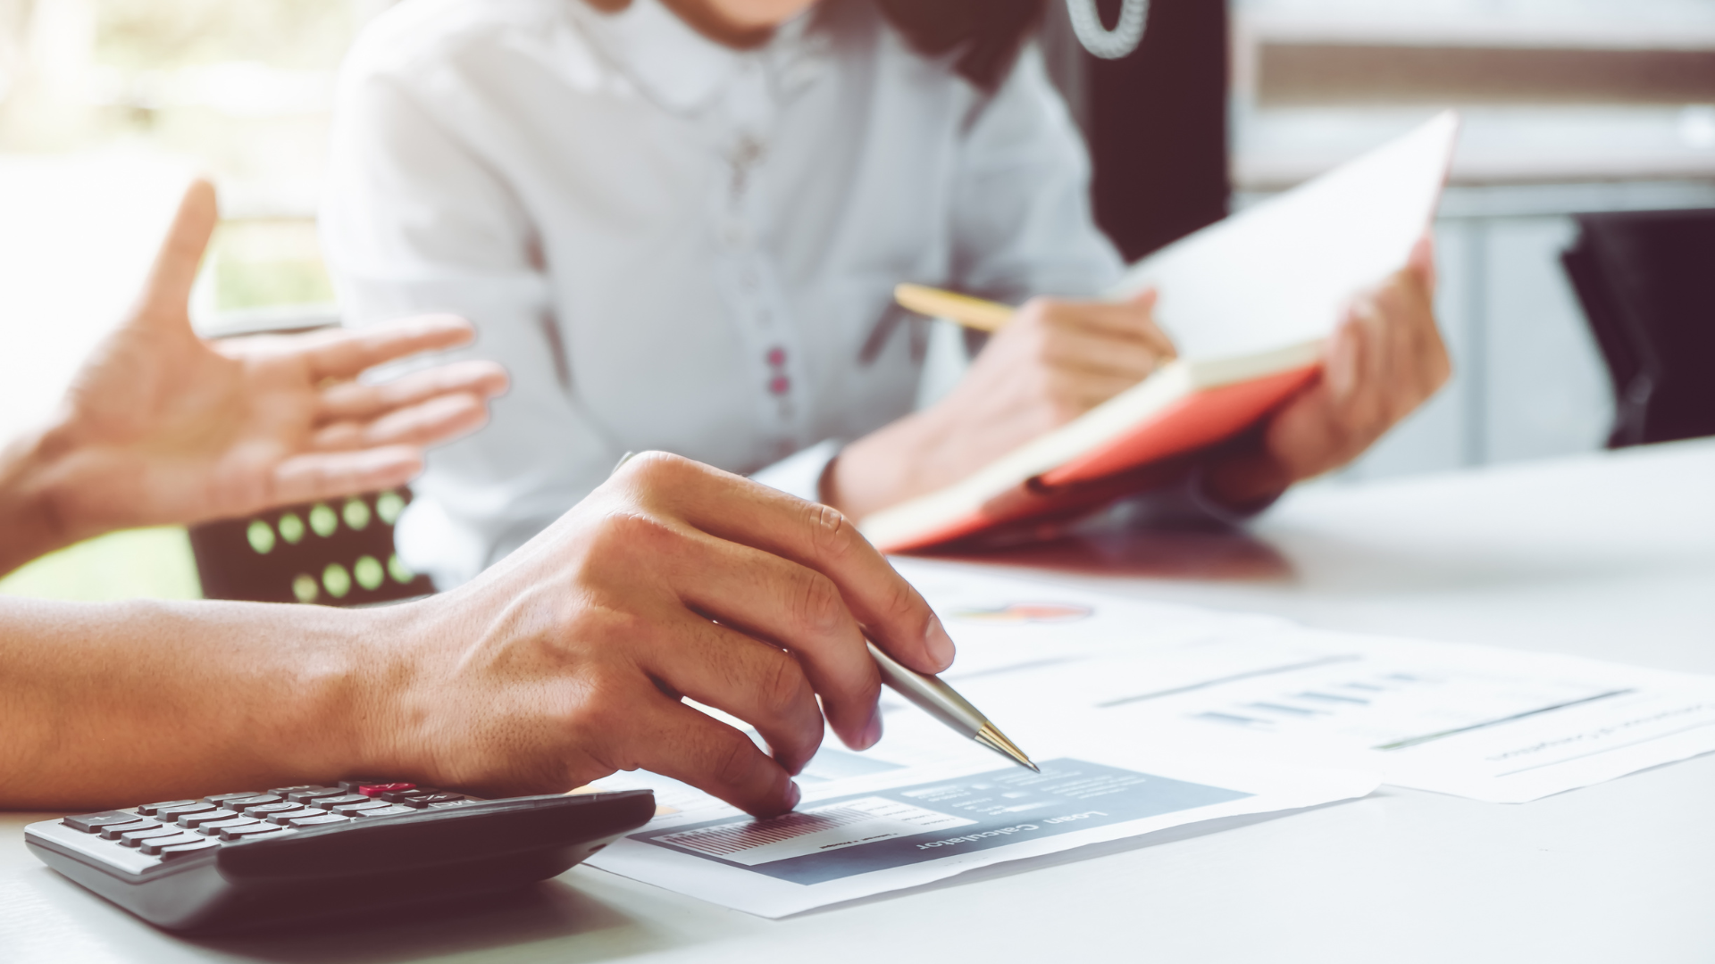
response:
M137 307L77 374L38 446L62 544L400 485L422 470L424 446L482 425L487 400L506 389L492 362L353 381L468 343L472 326L456 317L202 341L187 302L214 221L213 187L192 184Z

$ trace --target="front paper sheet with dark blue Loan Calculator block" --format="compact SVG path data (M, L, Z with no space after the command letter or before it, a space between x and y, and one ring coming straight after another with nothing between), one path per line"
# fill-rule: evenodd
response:
M990 755L962 767L806 782L803 803L784 816L755 820L707 804L683 810L588 863L780 918L1003 861L1375 789L1374 775L1341 770L1223 770L1142 756L1125 763L1058 756L1039 765L1043 772L1032 774Z

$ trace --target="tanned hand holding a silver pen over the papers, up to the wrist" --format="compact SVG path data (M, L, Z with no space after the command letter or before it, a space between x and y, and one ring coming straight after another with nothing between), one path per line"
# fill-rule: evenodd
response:
M756 815L797 803L823 712L882 736L868 635L921 672L954 645L837 511L664 453L633 458L477 580L396 607L376 772L499 796L638 767ZM816 696L821 707L816 707ZM688 707L732 714L767 739Z

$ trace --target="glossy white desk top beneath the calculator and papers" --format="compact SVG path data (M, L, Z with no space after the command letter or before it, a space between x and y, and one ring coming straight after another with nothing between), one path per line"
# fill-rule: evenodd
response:
M1305 491L1259 542L1014 559L1309 624L1715 672L1715 443ZM1170 575L1173 569L1202 578ZM1075 576L1084 578L1084 576ZM1712 961L1715 755L1523 806L1377 794L1219 834L765 921L575 868L458 914L185 942L27 854L0 815L0 959Z

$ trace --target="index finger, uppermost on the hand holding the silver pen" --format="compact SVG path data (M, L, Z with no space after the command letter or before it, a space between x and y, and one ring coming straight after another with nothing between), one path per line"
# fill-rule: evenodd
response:
M665 453L633 458L614 482L636 485L717 539L816 569L864 633L918 672L952 666L952 636L930 604L839 511Z

